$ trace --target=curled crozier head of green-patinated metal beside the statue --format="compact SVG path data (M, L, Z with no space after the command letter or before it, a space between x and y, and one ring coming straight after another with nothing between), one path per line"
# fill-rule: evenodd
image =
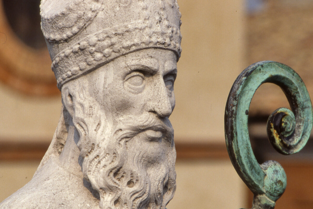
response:
M249 106L263 83L280 86L292 110L279 108L267 122L269 141L278 152L299 152L309 139L313 117L309 93L300 76L287 65L257 62L237 77L225 108L225 139L234 168L254 193L253 209L273 209L287 184L285 171L278 162L269 160L258 164L249 140Z

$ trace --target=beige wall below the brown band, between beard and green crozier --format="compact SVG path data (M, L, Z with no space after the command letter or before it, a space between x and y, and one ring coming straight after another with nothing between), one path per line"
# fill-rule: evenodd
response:
M244 208L247 187L229 160L177 161L177 190L169 209Z

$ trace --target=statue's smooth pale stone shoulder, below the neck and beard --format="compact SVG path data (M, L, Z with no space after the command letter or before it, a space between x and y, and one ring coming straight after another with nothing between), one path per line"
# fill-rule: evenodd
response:
M32 180L0 203L0 208L99 208L99 200L84 186L83 179L49 160Z

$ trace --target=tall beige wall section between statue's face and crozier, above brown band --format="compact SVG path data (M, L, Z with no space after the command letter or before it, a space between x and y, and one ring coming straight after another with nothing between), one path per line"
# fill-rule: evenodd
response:
M242 0L178 0L182 57L171 116L177 142L224 142L230 88L246 66Z

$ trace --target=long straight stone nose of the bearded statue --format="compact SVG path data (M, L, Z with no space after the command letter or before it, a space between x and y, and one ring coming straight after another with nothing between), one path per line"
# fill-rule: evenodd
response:
M150 101L149 112L154 112L160 118L169 117L172 114L172 105L168 97L167 89L162 79L155 89Z

